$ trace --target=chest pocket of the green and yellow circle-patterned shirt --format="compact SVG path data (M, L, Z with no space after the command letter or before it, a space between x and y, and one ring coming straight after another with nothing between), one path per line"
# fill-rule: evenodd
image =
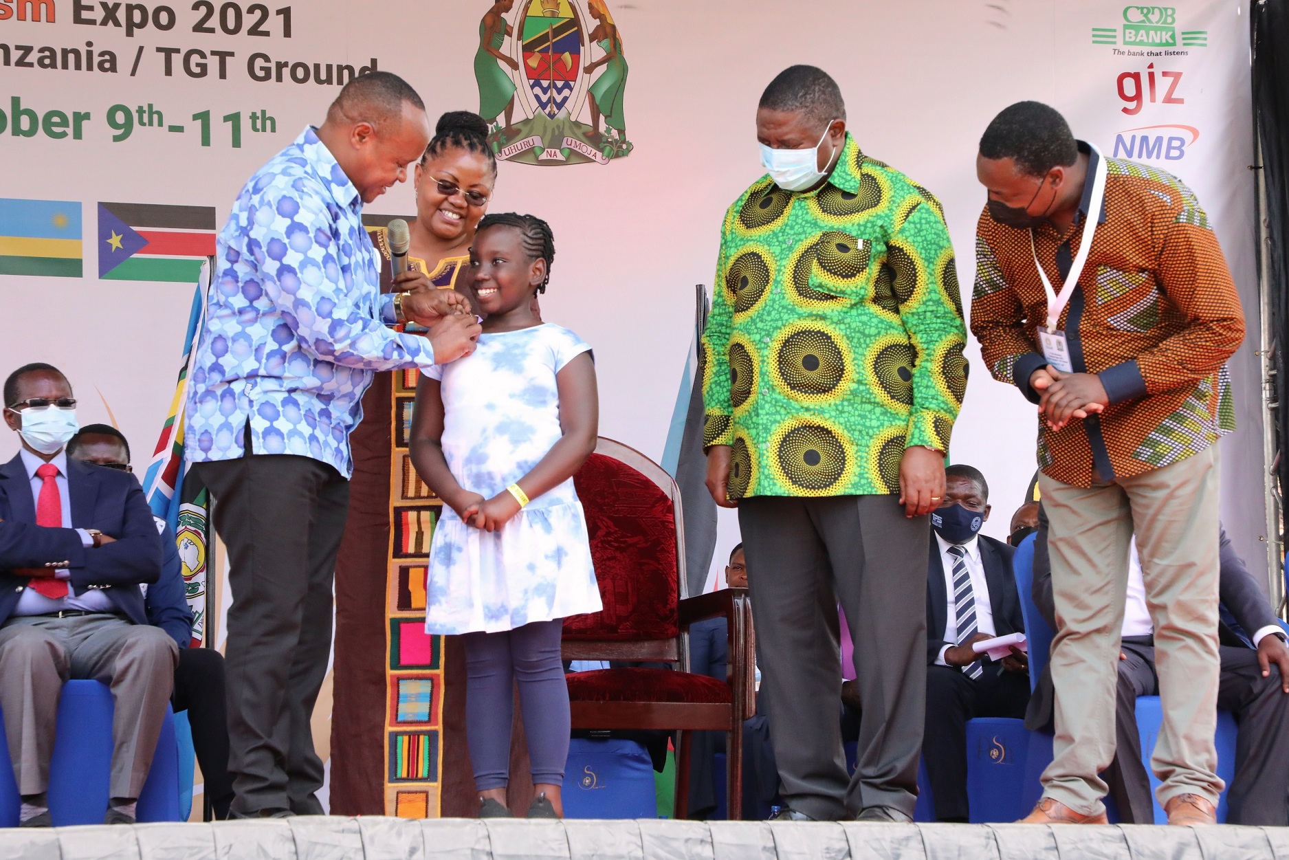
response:
M807 303L849 307L870 300L884 259L884 242L828 230L794 260L791 285Z

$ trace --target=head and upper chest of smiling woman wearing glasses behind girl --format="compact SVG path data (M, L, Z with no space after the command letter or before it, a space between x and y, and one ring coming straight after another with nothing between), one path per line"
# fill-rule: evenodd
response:
M371 242L380 251L380 291L458 289L474 306L476 299L459 273L469 267L474 228L487 211L496 184L496 159L487 144L487 122L469 111L450 111L438 117L412 183L416 219L409 224L407 272L392 277L385 228L367 228Z

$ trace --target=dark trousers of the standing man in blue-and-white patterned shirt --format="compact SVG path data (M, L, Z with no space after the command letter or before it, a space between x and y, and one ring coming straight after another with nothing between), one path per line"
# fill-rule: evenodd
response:
M349 482L307 456L197 463L228 548L228 768L235 815L321 815L309 718L331 650L331 584ZM383 585L382 585L383 587Z

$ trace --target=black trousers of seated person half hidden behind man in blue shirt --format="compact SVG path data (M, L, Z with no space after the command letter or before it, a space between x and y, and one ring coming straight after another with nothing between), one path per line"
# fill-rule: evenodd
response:
M174 710L188 712L192 748L201 765L206 799L217 820L228 817L233 777L228 772L228 705L224 698L224 655L214 649L180 649L174 670Z

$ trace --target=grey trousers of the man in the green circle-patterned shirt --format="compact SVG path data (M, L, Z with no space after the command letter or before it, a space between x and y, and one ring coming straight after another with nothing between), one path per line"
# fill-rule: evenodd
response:
M913 816L927 696L927 518L893 495L739 502L761 700L788 805L817 820L886 806ZM837 607L864 716L846 774Z

